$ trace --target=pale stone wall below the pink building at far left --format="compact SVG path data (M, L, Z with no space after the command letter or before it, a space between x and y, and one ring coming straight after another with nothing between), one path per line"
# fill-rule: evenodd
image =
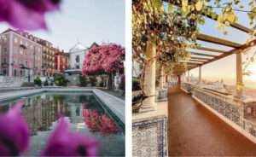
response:
M33 82L33 77L30 78L30 81ZM28 78L16 78L9 76L0 76L0 88L4 87L20 87L24 82L28 82Z

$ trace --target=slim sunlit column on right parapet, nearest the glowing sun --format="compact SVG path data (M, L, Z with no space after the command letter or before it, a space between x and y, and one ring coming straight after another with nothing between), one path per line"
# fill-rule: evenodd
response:
M237 84L242 84L241 53L236 54L236 97L241 98L243 96L243 89L237 90Z

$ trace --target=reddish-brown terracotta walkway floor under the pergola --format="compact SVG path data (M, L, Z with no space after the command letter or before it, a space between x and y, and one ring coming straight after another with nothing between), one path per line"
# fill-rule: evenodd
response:
M256 144L196 102L179 86L168 89L170 156L256 156Z

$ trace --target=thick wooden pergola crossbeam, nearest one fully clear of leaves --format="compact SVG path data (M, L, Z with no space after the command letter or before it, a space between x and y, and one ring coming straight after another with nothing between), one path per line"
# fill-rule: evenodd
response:
M212 43L212 44L220 44L220 45L224 45L224 46L229 46L232 48L239 48L241 46L241 44L237 44L235 42L230 42L230 41L224 40L222 38L215 38L212 36L208 36L206 34L198 34L197 40L201 40L201 41Z

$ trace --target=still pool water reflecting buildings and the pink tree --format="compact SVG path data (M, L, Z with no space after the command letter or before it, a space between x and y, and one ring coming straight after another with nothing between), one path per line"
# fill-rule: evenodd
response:
M124 128L113 119L92 93L42 93L21 97L25 102L22 115L31 133L31 148L26 155L37 155L45 145L49 132L64 116L71 131L95 137L102 142L99 156L124 156ZM0 102L0 112L5 113L20 99Z

